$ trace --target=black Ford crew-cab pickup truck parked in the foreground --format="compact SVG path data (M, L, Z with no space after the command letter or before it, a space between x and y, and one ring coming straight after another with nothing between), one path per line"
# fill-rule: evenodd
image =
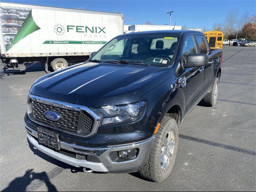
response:
M28 92L34 148L85 172L139 172L161 182L178 126L202 100L214 106L223 63L201 32L117 36L84 63L52 72Z

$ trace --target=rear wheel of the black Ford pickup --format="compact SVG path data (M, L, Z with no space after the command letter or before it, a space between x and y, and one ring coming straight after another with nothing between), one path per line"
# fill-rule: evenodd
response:
M218 87L219 87L219 78L216 77L211 91L207 93L203 98L203 102L205 106L212 107L216 104L217 97L218 97Z

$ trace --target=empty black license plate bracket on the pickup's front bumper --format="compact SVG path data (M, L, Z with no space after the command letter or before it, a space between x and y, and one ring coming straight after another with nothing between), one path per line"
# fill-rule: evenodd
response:
M59 134L57 132L37 128L38 142L55 150L60 150Z

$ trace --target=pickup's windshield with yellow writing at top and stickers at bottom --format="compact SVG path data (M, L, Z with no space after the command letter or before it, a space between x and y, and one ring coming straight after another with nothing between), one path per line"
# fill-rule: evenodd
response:
M167 67L175 57L180 36L171 34L132 34L116 37L90 61L148 64Z

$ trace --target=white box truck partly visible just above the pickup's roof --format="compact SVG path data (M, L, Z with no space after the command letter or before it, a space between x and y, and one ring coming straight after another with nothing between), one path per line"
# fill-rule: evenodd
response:
M129 31L181 30L182 26L169 25L131 25Z

